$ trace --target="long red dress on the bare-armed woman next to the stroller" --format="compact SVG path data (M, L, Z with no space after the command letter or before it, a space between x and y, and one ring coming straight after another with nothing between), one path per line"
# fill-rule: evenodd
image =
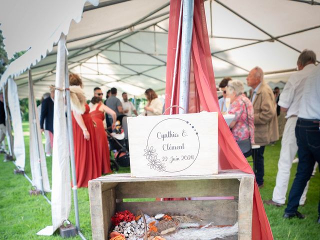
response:
M100 106L101 104L98 104L95 110L91 111L90 114L93 121L96 123L95 136L101 159L100 164L102 166L102 173L109 173L111 172L109 143L103 126L104 113L99 111Z

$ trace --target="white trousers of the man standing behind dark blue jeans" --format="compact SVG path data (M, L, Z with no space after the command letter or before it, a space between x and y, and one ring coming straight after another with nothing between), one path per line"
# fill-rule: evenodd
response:
M297 117L289 117L286 120L281 140L278 172L276 174L275 187L273 188L272 194L272 200L280 204L285 203L285 194L288 189L292 161L295 158L295 154L298 150L294 131L296 120ZM300 205L303 205L305 202L308 186L309 181L306 183L304 191L301 195L299 201Z

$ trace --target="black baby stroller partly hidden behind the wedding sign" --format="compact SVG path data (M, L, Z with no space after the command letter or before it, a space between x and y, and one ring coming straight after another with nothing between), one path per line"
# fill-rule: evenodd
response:
M126 125L126 116L120 118ZM123 121L124 120L124 121ZM112 132L107 132L110 151L114 151L114 159L110 159L111 169L117 171L119 166L130 166L130 157L128 151L128 141L125 137L124 129L122 128L122 122L117 120L116 127Z

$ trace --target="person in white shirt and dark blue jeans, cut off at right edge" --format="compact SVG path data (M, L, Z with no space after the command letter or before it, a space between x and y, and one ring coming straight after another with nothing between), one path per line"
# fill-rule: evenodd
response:
M299 199L310 179L314 163L320 163L320 65L305 80L295 127L298 145L298 166L288 197L283 218L305 216L297 211ZM320 224L320 201L317 223Z

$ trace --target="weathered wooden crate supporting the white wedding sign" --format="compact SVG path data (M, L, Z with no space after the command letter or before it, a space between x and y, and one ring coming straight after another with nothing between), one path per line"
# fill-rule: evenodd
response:
M98 177L89 181L92 239L108 239L111 216L116 211L135 213L137 209L148 215L184 213L216 225L238 221L237 239L251 239L253 183L254 175L239 170L224 170L217 175L131 178L125 173ZM203 199L222 196L233 199ZM197 200L123 201L155 197L197 197Z

